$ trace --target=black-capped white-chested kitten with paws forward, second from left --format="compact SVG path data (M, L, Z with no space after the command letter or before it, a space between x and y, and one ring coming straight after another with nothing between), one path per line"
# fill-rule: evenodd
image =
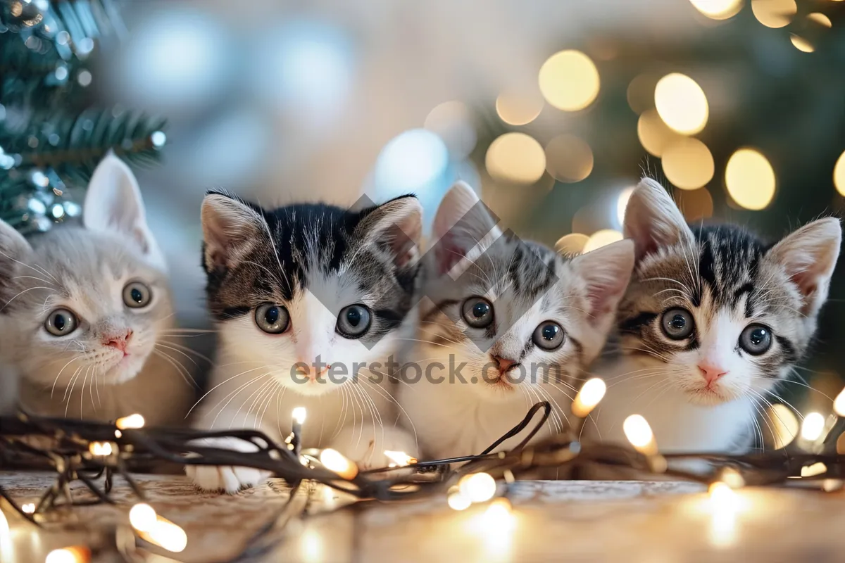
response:
M413 455L412 437L395 425L389 371L403 327L413 327L421 219L412 196L356 212L265 210L210 192L204 268L220 344L199 426L257 428L281 441L292 410L305 407L303 447L332 447L364 467L389 463L384 450ZM204 490L264 478L249 468L186 471Z

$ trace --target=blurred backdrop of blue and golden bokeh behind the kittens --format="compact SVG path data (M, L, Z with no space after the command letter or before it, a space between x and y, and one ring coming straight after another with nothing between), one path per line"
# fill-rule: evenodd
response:
M44 23L30 10L46 0L3 2L7 35L44 51L26 33ZM621 238L644 174L671 188L690 221L737 222L771 240L845 208L845 2L67 3L102 25L77 14L79 36L68 28L71 41L54 42L84 64L59 57L29 95L61 108L70 90L118 119L136 115L127 108L166 117L121 134L161 157L135 170L186 327L208 326L199 204L212 187L265 207L415 192L430 223L462 179L518 235L568 252ZM4 134L27 122L12 106L0 111ZM23 164L35 167L15 177L72 193L72 175L37 158L39 143L64 143L51 134L25 138L20 154L35 157ZM0 136L0 168L13 175L14 142ZM35 230L78 213L67 201L30 203L20 200ZM801 412L829 414L842 389L843 299L840 266L815 352L782 393ZM778 420L794 436L789 413Z

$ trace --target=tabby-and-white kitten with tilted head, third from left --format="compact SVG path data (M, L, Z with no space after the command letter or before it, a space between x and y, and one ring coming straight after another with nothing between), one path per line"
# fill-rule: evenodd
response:
M575 381L602 349L634 267L630 241L568 259L495 224L462 182L434 219L400 387L429 457L482 452L540 401L553 415L536 437L563 430Z

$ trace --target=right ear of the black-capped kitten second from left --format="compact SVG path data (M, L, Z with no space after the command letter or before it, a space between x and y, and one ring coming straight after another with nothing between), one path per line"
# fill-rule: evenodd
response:
M415 196L393 198L362 212L355 234L365 244L383 247L396 268L405 268L419 258L420 238L423 235L423 206Z

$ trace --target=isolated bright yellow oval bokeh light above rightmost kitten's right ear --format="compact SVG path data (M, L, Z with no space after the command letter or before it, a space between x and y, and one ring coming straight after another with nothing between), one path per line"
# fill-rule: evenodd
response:
M740 207L752 210L766 208L775 197L775 171L760 151L739 149L728 159L725 186Z

